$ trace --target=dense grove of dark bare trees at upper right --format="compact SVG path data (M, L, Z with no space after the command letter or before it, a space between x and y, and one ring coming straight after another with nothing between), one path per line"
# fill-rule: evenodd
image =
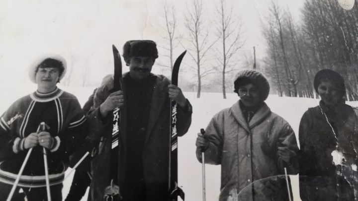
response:
M313 77L321 69L346 80L347 100L358 100L358 7L337 0L305 0L301 17L271 2L263 33L266 73L279 96L314 97Z

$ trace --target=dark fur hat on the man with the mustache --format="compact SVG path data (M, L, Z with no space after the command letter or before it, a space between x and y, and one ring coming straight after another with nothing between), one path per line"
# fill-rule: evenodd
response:
M123 58L126 62L133 56L158 58L157 44L151 40L127 41L123 46Z

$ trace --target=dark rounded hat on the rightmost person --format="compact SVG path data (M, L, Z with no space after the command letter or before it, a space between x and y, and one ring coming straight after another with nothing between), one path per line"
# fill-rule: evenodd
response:
M342 96L346 94L346 85L344 83L344 78L340 73L331 69L323 69L318 71L313 80L313 86L317 93L318 86L321 84L322 81L331 81L342 92Z

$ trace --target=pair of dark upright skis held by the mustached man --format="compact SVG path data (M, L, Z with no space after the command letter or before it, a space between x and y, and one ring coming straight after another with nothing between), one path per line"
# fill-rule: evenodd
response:
M113 91L122 89L122 63L117 48L113 45L114 57L114 88ZM178 74L181 60L183 59L186 51L184 51L176 60L172 71L172 84L178 85ZM171 100L170 105L170 151L169 151L169 184L168 191L171 201L178 201L178 196L184 200L184 193L178 187L178 133L177 133L177 103ZM116 108L113 110L112 121L112 147L111 147L111 160L110 160L110 185L105 190L106 199L112 201L121 200L119 187L118 187L118 167L120 163L120 110Z

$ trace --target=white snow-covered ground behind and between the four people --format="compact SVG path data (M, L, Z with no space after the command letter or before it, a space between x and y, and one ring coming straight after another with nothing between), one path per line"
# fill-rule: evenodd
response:
M75 94L83 105L93 88L82 87L63 87L60 88ZM9 90L8 96L2 97L0 104L0 113L16 99L35 90L34 86L25 86L23 88L4 89ZM11 92L10 92L11 90ZM234 93L227 94L227 99L222 98L221 93L202 93L201 97L196 98L192 92L184 92L193 106L193 116L191 127L187 134L179 138L179 186L185 192L187 201L200 201L201 190L201 164L195 157L195 139L200 128L206 128L211 117L220 110L232 106L238 96ZM298 134L298 126L303 113L308 107L317 105L318 100L309 98L289 98L270 95L266 103L271 111L282 116ZM352 106L358 106L358 102L348 102ZM297 137L297 135L296 135ZM69 170L68 170L69 172ZM64 182L63 195L66 197L72 181L73 174ZM297 177L291 177L293 181L294 201L300 201L298 195ZM206 200L217 201L220 193L220 166L206 165ZM82 201L87 200L84 198Z

